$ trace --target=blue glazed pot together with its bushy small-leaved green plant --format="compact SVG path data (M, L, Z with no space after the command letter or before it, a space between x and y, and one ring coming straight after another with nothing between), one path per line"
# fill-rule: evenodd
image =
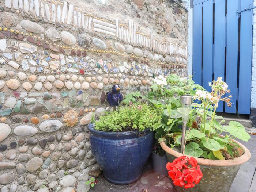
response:
M139 180L160 122L157 109L130 102L89 124L91 150L106 180L117 185Z

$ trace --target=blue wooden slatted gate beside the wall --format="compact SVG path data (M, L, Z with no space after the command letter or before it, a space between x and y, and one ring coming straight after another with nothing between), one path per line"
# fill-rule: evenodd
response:
M232 107L218 111L250 114L253 0L193 0L193 80L210 91L208 82L222 77Z

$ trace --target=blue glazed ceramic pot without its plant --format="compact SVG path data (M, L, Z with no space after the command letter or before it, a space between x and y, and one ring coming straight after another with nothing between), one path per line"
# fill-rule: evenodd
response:
M127 185L139 180L150 156L154 132L105 132L88 126L94 157L110 183Z

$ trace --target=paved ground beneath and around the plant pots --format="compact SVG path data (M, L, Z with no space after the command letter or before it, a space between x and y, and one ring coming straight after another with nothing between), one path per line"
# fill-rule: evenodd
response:
M256 135L251 135L249 142L240 142L251 151L252 157L241 165L230 192L256 192ZM113 185L106 181L102 174L97 180L98 183L90 192L175 192L171 180L154 173L150 161L144 168L143 176L133 184Z

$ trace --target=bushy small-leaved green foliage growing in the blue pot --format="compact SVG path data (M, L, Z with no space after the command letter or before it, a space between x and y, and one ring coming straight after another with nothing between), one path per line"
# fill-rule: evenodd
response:
M158 109L145 103L135 103L120 106L117 111L100 117L95 121L98 131L144 131L146 128L156 130L161 123L161 113Z

